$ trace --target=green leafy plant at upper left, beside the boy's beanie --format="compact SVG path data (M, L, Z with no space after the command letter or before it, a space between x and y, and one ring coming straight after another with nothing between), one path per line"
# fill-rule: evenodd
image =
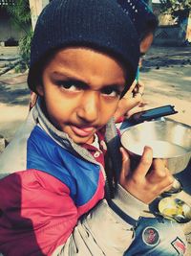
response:
M30 59L30 45L32 40L32 20L29 0L16 0L13 4L5 6L11 15L15 26L19 27L24 35L19 40L21 66L27 68Z

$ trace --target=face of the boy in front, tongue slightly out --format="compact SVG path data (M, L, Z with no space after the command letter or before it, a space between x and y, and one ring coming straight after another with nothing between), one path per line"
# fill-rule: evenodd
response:
M70 47L45 66L37 91L56 128L75 143L91 144L96 130L114 115L124 86L125 72L115 58Z

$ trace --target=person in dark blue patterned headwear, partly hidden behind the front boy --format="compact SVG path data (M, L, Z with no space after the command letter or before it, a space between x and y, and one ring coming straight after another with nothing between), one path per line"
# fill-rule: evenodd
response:
M129 118L134 113L143 110L145 103L142 101L144 84L139 81L139 68L142 58L148 52L158 27L158 19L143 0L117 0L124 12L128 13L136 31L138 32L140 58L138 61L138 73L136 81L120 100L115 119L121 122L124 117Z

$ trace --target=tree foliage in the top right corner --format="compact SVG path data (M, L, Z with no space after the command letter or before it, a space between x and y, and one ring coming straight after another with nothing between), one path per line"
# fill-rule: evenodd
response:
M178 23L188 17L191 11L190 0L159 0L162 12L171 14L178 19Z

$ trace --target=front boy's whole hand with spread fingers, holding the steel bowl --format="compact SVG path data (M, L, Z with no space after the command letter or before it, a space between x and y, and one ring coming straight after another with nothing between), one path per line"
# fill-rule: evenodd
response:
M165 167L163 160L153 159L151 148L144 148L138 167L131 172L129 154L123 148L120 148L120 151L122 170L119 184L131 195L144 203L150 203L172 187L174 177Z

